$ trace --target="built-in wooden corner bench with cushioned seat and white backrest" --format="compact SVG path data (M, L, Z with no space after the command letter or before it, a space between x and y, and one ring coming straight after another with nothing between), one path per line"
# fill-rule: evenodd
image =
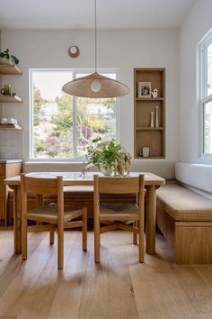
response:
M212 166L177 163L175 170L178 182L157 190L157 226L177 263L212 263Z

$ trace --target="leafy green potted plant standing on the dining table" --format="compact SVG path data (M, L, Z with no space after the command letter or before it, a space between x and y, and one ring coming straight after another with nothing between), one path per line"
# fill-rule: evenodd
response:
M82 174L94 166L104 175L127 176L131 155L114 139L102 141L101 137L94 139L87 147L86 161Z

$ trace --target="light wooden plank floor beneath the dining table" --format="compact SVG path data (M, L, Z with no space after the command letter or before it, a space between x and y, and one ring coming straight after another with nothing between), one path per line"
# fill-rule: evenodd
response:
M65 269L57 244L31 233L29 257L13 255L13 232L0 231L0 318L212 318L212 265L177 266L160 234L154 256L137 262L128 232L102 234L102 263L93 262L93 232L66 232Z

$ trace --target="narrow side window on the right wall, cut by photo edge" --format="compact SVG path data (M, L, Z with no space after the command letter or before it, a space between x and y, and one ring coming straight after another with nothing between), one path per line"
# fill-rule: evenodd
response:
M212 31L200 43L200 68L203 154L212 156Z

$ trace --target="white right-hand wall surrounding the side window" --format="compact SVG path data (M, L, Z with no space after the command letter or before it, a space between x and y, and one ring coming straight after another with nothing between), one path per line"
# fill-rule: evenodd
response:
M212 164L202 160L201 113L199 108L198 44L212 27L212 1L196 0L180 32L180 160Z

